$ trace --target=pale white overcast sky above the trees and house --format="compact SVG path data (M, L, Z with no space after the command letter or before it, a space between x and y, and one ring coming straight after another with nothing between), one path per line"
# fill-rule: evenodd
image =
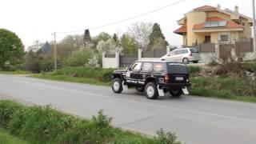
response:
M87 27L101 26L110 22L130 18L150 10L169 5L179 0L5 0L1 1L0 28L14 31L26 46L35 40L51 41L54 31L83 30ZM178 28L177 20L186 12L204 5L234 10L252 17L251 0L185 0L175 6L135 18L114 26L90 30L91 36L102 31L122 34L133 22L158 22L170 45L180 46L182 37L174 34ZM73 33L82 34L83 32ZM66 34L58 34L57 40Z

